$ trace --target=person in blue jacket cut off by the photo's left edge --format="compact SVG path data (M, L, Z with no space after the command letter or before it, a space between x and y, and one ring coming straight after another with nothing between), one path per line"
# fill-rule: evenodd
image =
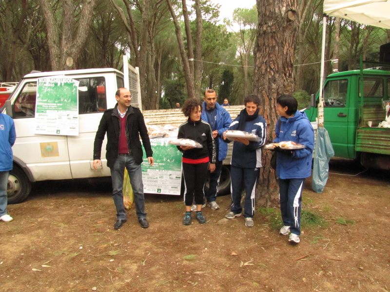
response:
M14 120L1 113L0 108L0 220L13 220L7 214L7 184L9 171L12 169L12 146L16 140Z

